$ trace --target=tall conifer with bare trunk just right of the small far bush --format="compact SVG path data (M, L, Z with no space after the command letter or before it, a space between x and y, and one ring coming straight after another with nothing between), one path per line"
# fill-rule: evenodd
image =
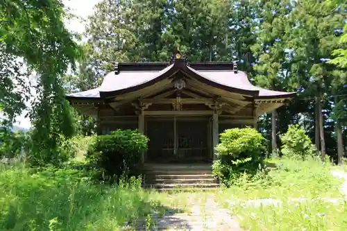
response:
M286 40L287 46L293 49L296 72L301 73L301 85L316 92L316 134L319 132L322 157L326 152L322 97L329 79L333 78L331 65L326 60L338 46L345 18L344 7L314 0L295 1L288 17L291 29L287 31Z

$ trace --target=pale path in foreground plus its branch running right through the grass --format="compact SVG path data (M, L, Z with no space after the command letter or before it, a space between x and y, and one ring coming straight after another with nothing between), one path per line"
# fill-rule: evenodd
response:
M332 176L337 178L344 178L344 184L341 186L341 192L346 196L347 200L347 173L343 171L332 171ZM214 198L214 194L187 194L192 196L189 201L190 212L165 212L164 216L151 216L151 225L148 225L148 218L142 218L137 221L137 224L130 225L130 229L126 230L141 230L145 231L146 226L150 227L149 230L216 230L216 231L242 231L239 228L239 223L235 220L232 214L227 209L222 209ZM341 203L344 198L321 198L330 203ZM288 201L305 201L305 198L289 198ZM246 201L228 201L230 207L235 204L245 203L251 207L259 207L261 205L276 205L281 206L282 201L272 198L260 200L246 200ZM147 225L146 225L147 223ZM146 230L148 231L148 230Z

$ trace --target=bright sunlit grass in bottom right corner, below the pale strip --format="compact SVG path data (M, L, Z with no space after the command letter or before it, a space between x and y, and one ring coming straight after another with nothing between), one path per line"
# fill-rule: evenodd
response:
M334 230L347 228L347 201L332 204L326 200L249 207L237 205L233 212L247 230Z

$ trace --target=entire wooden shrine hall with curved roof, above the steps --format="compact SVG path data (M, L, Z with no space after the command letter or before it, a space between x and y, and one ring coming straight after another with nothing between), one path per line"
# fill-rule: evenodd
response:
M149 137L142 162L208 163L219 133L257 127L260 114L285 104L293 92L251 84L236 62L119 62L100 87L67 95L83 114L96 117L98 133L136 129Z

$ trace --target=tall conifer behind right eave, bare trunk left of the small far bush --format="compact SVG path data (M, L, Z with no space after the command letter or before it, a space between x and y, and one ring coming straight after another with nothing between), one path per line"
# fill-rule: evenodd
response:
M286 52L284 40L287 25L287 16L291 13L291 1L259 1L259 29L256 31L257 40L251 47L257 63L253 66L256 71L255 83L273 90L292 90L298 87L293 85L291 77L290 59ZM291 83L291 84L290 84ZM291 89L292 87L292 89ZM271 116L271 148L275 152L277 141L277 110Z

